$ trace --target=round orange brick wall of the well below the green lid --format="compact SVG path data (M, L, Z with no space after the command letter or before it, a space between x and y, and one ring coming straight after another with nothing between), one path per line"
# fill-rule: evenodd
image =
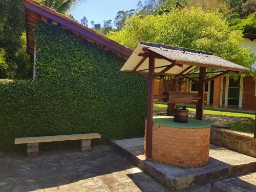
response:
M177 167L204 166L209 159L209 139L210 127L181 129L153 124L152 160Z

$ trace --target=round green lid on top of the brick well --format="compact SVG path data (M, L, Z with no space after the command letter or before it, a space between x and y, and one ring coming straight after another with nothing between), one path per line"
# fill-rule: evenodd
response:
M202 129L210 126L210 123L207 121L201 121L190 117L188 118L187 123L177 123L174 122L174 117L170 116L153 117L153 124L183 129Z

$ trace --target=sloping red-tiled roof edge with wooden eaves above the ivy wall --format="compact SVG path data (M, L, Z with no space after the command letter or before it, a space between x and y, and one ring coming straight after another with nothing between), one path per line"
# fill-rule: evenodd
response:
M38 20L44 20L48 23L53 22L61 28L69 29L77 35L87 38L102 46L104 49L111 50L124 58L129 58L133 52L133 50L120 45L118 42L109 39L105 35L97 33L88 27L84 27L76 20L58 13L34 0L24 0L23 4L26 17L27 49L29 54L34 54L34 27Z

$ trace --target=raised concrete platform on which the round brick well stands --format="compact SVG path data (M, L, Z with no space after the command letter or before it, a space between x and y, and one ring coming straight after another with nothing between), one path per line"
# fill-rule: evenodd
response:
M210 145L209 162L199 168L181 168L146 160L144 138L113 140L112 145L169 190L200 186L220 178L256 171L256 158Z

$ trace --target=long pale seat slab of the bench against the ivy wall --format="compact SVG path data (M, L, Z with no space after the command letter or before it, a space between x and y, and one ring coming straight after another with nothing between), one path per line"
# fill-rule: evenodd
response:
M100 139L100 138L101 138L101 135L98 133L55 135L55 136L42 136L42 137L20 137L20 138L15 138L14 144L43 143L43 142L54 142L54 141Z

